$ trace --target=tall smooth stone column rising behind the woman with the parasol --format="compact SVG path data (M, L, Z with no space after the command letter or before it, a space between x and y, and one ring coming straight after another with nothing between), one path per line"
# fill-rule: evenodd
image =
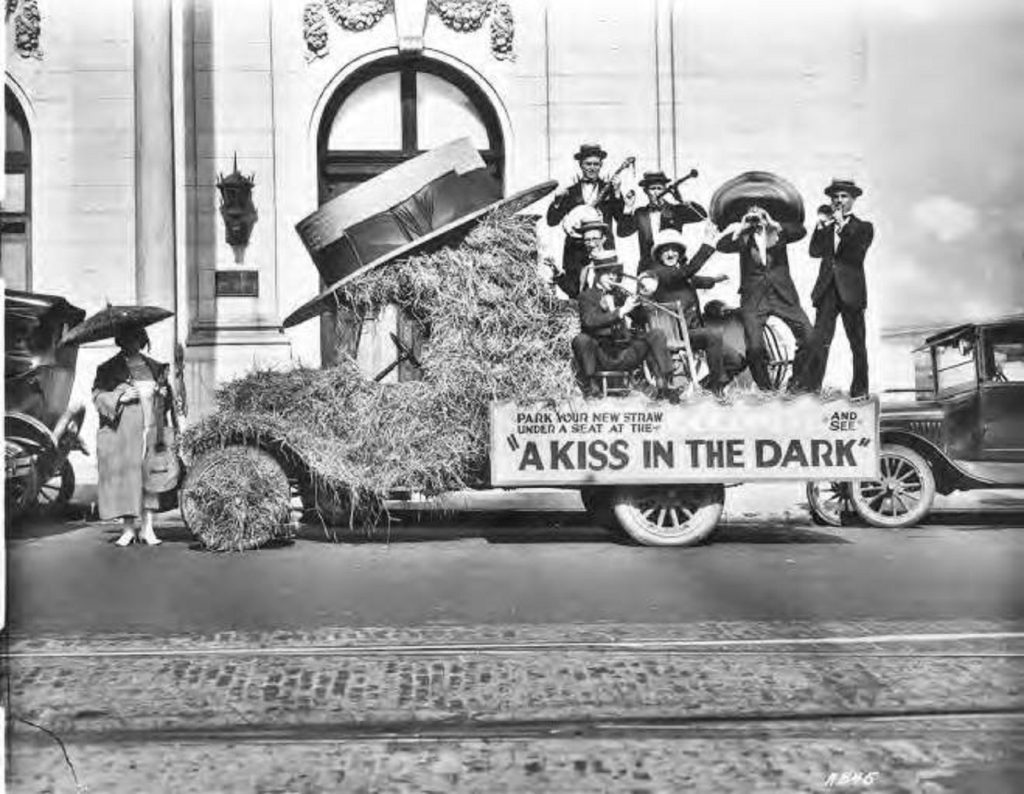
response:
M135 297L177 310L174 245L174 114L171 0L135 0ZM150 329L170 361L174 322Z

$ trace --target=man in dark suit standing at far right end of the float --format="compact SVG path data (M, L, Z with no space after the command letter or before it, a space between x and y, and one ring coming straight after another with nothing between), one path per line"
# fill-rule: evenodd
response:
M843 318L843 328L853 356L853 380L850 396L867 394L867 345L864 341L864 309L867 285L864 282L864 255L874 239L874 226L853 214L853 203L863 191L852 180L833 179L825 187L831 206L818 208L818 223L811 235L810 254L820 259L818 280L811 291L817 312L814 334L820 347L814 377L809 384L821 387L828 364L828 349L836 335L836 318Z

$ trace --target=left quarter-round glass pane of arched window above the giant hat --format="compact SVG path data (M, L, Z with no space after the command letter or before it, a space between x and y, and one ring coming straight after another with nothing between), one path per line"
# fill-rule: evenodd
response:
M397 72L364 83L341 103L327 145L335 151L401 149L401 94Z

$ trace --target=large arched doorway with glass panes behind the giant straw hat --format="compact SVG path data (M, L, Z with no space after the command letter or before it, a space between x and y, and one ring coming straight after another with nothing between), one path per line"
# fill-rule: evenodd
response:
M374 61L346 80L325 110L316 141L319 203L458 137L473 141L492 174L504 184L501 123L479 86L426 57ZM360 323L353 317L323 317L324 366L336 363L339 347L354 354ZM397 333L403 344L418 345L415 329L400 320ZM415 369L403 362L399 379L417 377Z

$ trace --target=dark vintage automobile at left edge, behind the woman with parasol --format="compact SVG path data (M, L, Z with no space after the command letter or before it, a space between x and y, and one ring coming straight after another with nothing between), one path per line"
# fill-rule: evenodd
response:
M59 511L75 492L68 455L85 451L85 406L69 406L78 346L60 344L85 311L54 295L4 291L4 483L8 521Z

